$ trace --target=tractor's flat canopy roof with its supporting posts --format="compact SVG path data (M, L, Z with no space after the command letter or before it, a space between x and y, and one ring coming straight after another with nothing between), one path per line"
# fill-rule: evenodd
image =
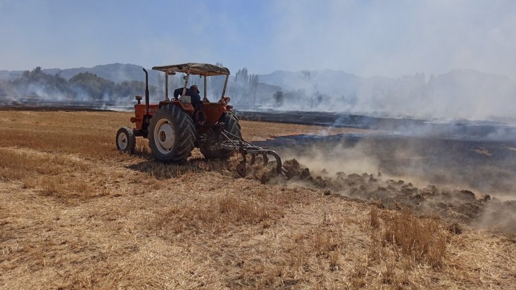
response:
M168 96L168 76L175 75L176 73L185 73L185 84L183 86L183 94L188 87L188 79L190 75L201 75L204 77L204 100L207 101L206 98L206 77L211 77L214 75L225 75L226 80L224 83L224 89L222 89L222 96L220 99L224 98L227 88L227 81L229 79L229 70L223 66L216 66L214 64L209 63L182 63L182 64L174 64L172 66L155 66L152 68L153 70L160 70L165 73L165 100L169 100ZM183 94L181 96L183 96Z

